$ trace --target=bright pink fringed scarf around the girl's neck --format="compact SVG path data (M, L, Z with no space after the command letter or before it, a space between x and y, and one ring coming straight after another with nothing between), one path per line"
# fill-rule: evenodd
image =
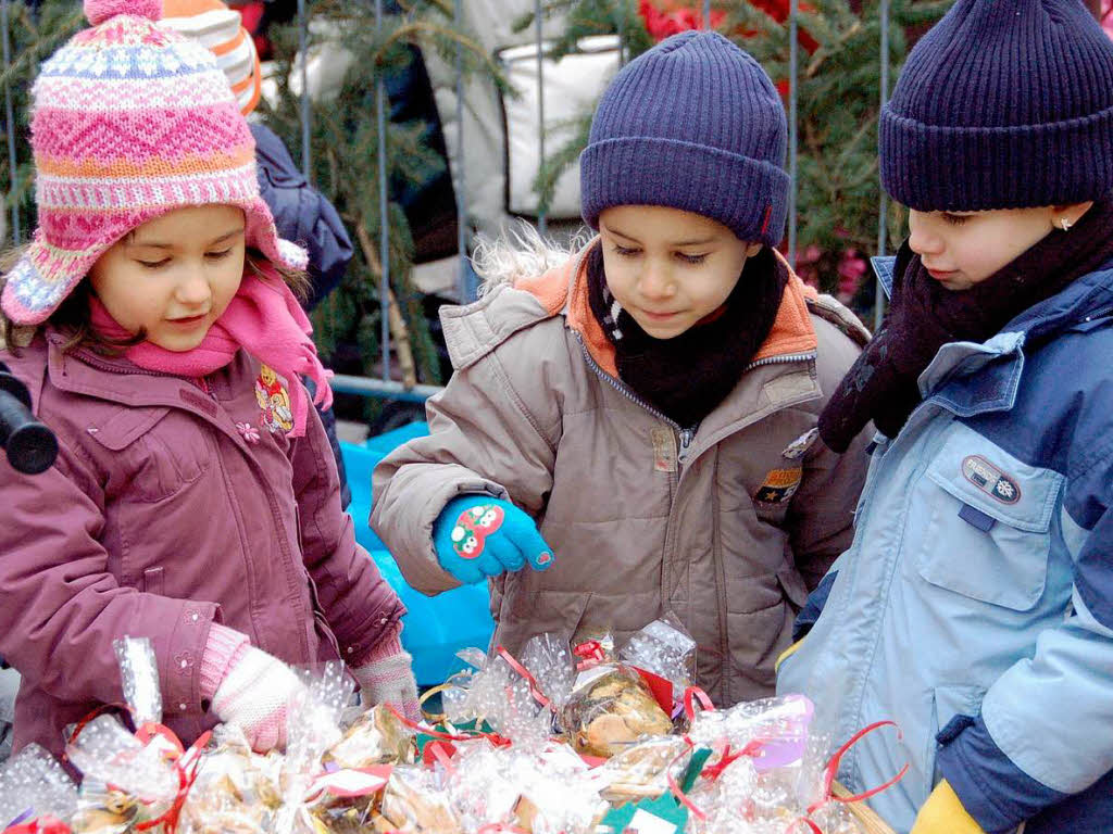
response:
M313 326L297 298L277 271L267 267L263 270L266 278L259 278L254 272L244 275L228 309L193 350L178 353L142 341L127 348L124 355L140 368L193 378L205 377L223 368L243 348L285 377L294 411L294 428L289 436L302 437L305 435L308 398L299 377L304 375L316 383L317 394L313 401L328 408L333 404L333 391L328 387L333 373L325 370L317 358L317 348L309 338ZM89 306L97 330L110 338L130 336L96 296L90 298Z

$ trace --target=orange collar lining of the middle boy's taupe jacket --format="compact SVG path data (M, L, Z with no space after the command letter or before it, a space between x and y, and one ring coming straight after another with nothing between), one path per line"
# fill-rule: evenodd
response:
M563 312L568 326L580 335L591 358L602 370L617 379L619 374L614 346L595 320L588 301L587 256L592 247L599 245L599 237L595 237L563 265L535 278L515 281L514 287L532 294L549 315ZM780 252L775 251L775 255L784 261ZM754 356L754 361L811 354L818 346L816 330L808 314L808 299L815 299L818 294L805 285L791 268L788 272L788 284L777 310L777 318L768 338Z

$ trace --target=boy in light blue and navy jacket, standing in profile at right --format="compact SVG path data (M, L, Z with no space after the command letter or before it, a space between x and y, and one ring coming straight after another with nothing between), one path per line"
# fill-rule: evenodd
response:
M1113 44L1078 0L958 0L880 171L912 234L819 420L873 420L877 460L778 688L836 743L897 722L841 778L907 761L871 800L898 831L1113 830Z

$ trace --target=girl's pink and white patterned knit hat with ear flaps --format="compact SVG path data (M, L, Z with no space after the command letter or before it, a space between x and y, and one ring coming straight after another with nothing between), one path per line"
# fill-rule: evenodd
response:
M85 0L92 29L42 64L31 91L39 227L0 300L49 318L128 231L167 211L237 206L247 245L304 269L259 197L255 141L213 53L159 28L161 0Z

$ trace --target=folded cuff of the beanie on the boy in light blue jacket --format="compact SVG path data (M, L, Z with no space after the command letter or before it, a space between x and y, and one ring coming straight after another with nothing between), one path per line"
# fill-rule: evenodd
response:
M953 127L889 105L878 143L881 185L918 211L1068 205L1113 190L1113 108L1044 125Z

